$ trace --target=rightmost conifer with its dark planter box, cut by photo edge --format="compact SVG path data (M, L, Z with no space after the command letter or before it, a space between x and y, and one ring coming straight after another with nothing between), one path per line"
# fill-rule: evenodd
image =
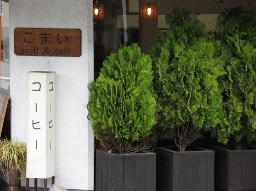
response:
M225 10L217 18L221 56L225 60L225 115L217 128L215 185L224 190L256 190L256 15L243 7Z

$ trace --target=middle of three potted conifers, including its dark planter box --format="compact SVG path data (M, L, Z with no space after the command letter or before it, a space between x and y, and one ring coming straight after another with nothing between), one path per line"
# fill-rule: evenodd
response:
M160 127L175 147L156 147L157 190L214 190L214 151L188 148L222 118L218 79L224 74L213 39L197 15L174 9L152 47Z

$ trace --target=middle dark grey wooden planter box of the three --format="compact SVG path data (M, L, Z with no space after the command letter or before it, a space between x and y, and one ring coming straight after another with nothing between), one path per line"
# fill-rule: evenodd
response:
M214 190L214 151L191 147L156 147L156 189L170 191Z

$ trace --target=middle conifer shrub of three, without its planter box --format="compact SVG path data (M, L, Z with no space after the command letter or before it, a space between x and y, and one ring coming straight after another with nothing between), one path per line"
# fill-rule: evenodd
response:
M223 61L197 15L175 8L166 23L170 29L158 33L151 47L159 126L185 151L201 130L220 123Z

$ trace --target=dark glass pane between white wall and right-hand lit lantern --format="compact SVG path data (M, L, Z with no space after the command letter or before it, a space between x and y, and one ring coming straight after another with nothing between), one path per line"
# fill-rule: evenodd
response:
M94 79L106 56L117 47L139 42L137 0L96 0L104 5L104 18L94 20Z

